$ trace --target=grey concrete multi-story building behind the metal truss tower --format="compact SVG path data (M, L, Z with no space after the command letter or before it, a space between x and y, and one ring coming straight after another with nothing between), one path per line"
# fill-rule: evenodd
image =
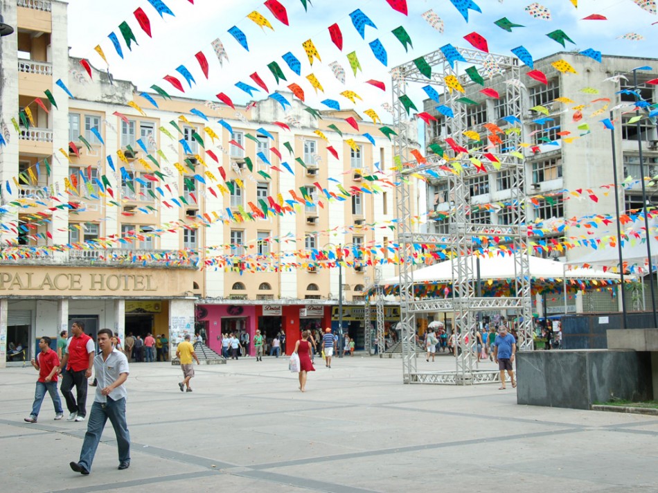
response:
M577 73L556 69L552 64L558 60L568 62ZM605 55L601 62L596 62L577 53L555 53L536 60L534 64L534 69L546 76L545 84L522 75L524 107L532 108L522 116L520 125L521 140L526 144L522 149L526 156L527 201L524 206L528 223L540 222L543 226L539 234L535 227L531 235L535 255L562 261L577 260L589 250L588 246L572 248L578 240L616 234L614 188L610 186L614 182L614 162L619 181L628 179L620 190L621 210L628 213L641 209L637 124L632 120L636 101L632 71L643 68L637 71L637 93L643 100L653 103L657 62ZM522 74L529 70L524 67ZM649 81L654 82L649 84ZM510 116L505 97L485 96L480 91L482 86L470 82L467 76L462 82L465 96L474 102L467 109L470 129L484 136L489 132L483 125L494 123L502 131L495 132L500 141L488 144L494 144L497 150L505 150L510 129L519 127L513 120L503 119ZM501 78L487 81L486 87L499 95L506 92ZM610 129L605 129L601 122L610 118L613 110L614 152ZM426 127L427 145L435 142L443 145L445 138L451 136L450 118L437 111L436 102L432 100L425 101L425 111L436 117L436 121ZM654 177L658 173L658 134L650 119L641 120L639 137L645 175ZM510 224L514 205L510 201L510 179L506 173L476 174L470 179L469 214L472 222ZM655 188L650 192L655 194ZM656 203L655 195L650 199ZM447 181L430 181L427 186L429 232L448 233L452 201L454 197L451 197ZM612 215L612 224L596 223L594 217L599 214ZM587 217L591 218L591 224L586 219L580 220ZM573 218L578 221L564 221ZM593 227L595 223L596 227ZM639 224L637 228L640 229ZM563 243L564 240L567 244ZM535 309L539 314L544 313L542 303L548 306L549 314L564 310L561 296L543 300L537 297ZM616 310L617 304L617 299L608 292L594 292L587 294L585 301L580 296L569 297L567 310Z

